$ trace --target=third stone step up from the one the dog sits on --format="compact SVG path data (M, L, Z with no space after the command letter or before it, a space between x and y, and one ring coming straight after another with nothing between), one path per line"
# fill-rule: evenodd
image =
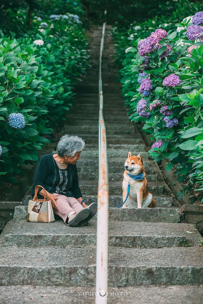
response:
M123 173L109 173L109 182L122 181ZM146 174L147 181L157 181L157 174ZM78 173L79 181L98 181L99 173Z

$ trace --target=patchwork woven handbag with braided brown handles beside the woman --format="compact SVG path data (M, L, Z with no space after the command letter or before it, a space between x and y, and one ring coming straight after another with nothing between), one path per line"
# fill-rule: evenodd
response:
M44 199L37 199L39 188L44 190ZM51 223L55 221L51 202L48 200L46 190L37 185L34 191L34 197L28 202L27 219L28 222Z

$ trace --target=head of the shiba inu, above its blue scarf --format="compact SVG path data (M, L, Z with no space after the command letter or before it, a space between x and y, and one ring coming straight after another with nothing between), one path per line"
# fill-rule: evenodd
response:
M131 175L137 175L144 171L143 161L140 154L138 156L132 155L128 152L128 158L125 161L125 170Z

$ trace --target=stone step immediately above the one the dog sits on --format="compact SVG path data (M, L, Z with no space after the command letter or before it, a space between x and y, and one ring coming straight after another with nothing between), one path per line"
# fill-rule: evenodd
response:
M83 198L87 205L97 202L97 196L96 195L83 195ZM153 196L154 199L156 199L156 205L157 207L163 207L168 208L172 206L173 198L171 196ZM118 207L123 202L122 195L111 195L109 196L109 206L110 207Z

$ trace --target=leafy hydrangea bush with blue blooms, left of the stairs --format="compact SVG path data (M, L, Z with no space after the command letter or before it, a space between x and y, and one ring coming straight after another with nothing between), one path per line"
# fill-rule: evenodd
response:
M36 17L29 34L0 38L0 175L9 181L38 161L44 136L60 127L88 67L82 24L68 15Z

